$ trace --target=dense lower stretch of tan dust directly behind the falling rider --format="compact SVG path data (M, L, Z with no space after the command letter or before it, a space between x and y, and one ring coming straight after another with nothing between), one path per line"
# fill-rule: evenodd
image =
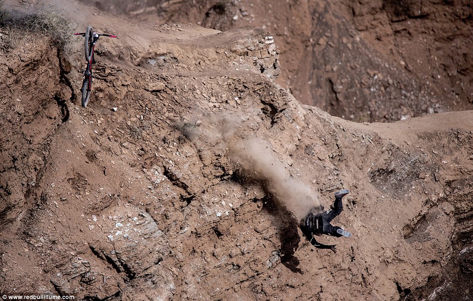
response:
M260 184L275 201L286 206L298 220L321 204L309 186L292 177L260 139L240 140L229 145L230 159L245 180Z

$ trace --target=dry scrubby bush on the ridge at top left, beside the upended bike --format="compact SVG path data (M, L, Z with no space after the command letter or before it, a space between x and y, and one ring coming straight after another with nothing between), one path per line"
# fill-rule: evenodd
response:
M6 28L26 29L31 32L50 35L54 46L64 50L73 41L75 25L65 19L54 5L43 5L36 12L24 15L10 14L0 2L0 25ZM16 47L15 38L10 36L7 47Z

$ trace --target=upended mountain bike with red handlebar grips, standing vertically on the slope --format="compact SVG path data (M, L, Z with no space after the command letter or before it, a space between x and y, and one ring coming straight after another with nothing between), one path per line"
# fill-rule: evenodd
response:
M82 35L84 39L84 53L86 55L87 69L84 70L84 81L82 82L82 106L87 107L89 103L90 91L92 90L92 64L95 64L93 50L95 43L101 36L116 38L116 35L104 34L92 30L92 26L87 26L86 32L76 32L74 35Z

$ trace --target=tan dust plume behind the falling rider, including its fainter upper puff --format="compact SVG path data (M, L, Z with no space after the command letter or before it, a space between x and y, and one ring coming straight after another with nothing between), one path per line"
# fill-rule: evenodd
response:
M244 116L232 112L207 116L206 119L208 126L200 126L200 142L205 141L207 145L212 145L214 151L226 153L243 184L260 185L278 205L290 210L297 220L309 211L322 211L312 189L289 174L264 139L247 138L245 133L239 132L239 129L245 128Z

